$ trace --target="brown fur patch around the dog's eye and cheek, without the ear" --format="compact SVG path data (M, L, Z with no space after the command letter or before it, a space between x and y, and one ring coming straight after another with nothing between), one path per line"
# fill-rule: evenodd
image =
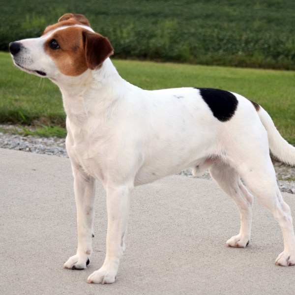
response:
M53 39L58 42L59 49L50 47ZM64 75L79 76L88 69L82 28L69 27L56 31L44 43L44 49Z

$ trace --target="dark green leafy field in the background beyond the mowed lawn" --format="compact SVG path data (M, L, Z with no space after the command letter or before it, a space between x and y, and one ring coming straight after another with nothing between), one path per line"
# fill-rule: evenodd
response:
M294 0L0 1L3 51L72 12L111 40L118 59L295 70Z

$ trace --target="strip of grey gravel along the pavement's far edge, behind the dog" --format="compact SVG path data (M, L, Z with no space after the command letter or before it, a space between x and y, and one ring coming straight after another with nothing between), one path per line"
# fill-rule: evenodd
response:
M17 127L11 125L0 125L0 129L15 130ZM11 134L10 132L0 132L0 148L68 157L65 148L65 139L57 137L45 138L31 135L23 136ZM295 167L290 167L277 161L273 161L273 165L276 171L280 191L295 194ZM191 170L182 171L179 175L193 177ZM203 176L197 178L212 179L209 172L206 172Z

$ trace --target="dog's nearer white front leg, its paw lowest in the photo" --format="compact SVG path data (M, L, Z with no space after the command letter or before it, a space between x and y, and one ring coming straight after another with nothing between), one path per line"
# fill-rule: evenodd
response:
M108 233L104 264L88 278L88 283L113 283L125 245L130 193L133 185L107 187Z

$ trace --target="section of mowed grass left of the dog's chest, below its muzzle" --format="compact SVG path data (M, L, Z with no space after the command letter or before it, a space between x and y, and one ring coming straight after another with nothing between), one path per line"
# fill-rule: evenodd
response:
M0 53L0 122L64 125L58 87L17 69Z

